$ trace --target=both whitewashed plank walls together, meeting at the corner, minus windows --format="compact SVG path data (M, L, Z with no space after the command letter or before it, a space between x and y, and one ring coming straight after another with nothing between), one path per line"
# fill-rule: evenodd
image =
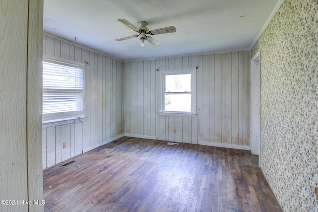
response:
M123 135L250 149L249 52L123 63L44 34L43 54L85 65L87 119L42 130L43 168ZM196 117L159 115L159 70L197 69ZM173 133L176 129L176 133ZM63 142L67 148L63 148Z

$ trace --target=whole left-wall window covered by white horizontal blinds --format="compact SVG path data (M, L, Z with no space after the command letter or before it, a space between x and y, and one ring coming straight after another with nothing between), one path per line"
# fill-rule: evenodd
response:
M84 66L43 59L43 123L84 117Z

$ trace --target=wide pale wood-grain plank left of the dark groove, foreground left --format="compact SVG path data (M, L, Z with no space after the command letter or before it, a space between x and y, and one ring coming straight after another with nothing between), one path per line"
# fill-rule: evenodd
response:
M28 2L1 1L0 8L0 199L27 200L27 39ZM16 15L9 15L16 14ZM3 24L2 24L3 23ZM9 27L12 26L12 27ZM0 211L28 211L0 204Z

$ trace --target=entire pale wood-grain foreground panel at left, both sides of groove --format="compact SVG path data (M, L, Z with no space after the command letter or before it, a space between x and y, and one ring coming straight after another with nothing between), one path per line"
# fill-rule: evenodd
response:
M43 0L0 3L0 212L41 212ZM23 205L20 200L31 201Z

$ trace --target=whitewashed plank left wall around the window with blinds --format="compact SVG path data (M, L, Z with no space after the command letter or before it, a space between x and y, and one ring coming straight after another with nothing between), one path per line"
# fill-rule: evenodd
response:
M123 62L44 34L43 54L85 65L85 121L43 128L43 168L121 137ZM62 143L67 142L63 148Z

